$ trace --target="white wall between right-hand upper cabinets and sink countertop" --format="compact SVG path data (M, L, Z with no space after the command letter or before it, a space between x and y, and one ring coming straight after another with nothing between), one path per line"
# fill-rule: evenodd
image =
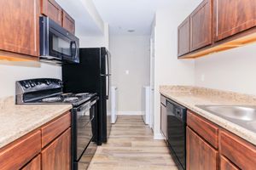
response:
M256 94L255 56L256 44L250 44L195 59L195 85Z

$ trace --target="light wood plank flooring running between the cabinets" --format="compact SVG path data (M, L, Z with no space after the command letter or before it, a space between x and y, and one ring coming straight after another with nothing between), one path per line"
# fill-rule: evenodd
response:
M89 170L176 170L163 140L155 140L142 116L118 116L107 144L98 146Z

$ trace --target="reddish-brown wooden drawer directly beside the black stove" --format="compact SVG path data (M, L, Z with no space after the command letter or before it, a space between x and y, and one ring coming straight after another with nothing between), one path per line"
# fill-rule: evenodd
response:
M71 125L70 112L42 127L42 148Z

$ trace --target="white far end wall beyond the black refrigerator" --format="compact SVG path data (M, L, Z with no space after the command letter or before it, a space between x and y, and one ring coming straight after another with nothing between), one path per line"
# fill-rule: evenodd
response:
M119 88L118 111L143 111L143 86L149 85L149 36L112 36L110 52L113 85Z

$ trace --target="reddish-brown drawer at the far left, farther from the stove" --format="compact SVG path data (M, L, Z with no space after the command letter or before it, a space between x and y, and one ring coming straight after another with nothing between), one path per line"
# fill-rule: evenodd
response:
M1 170L20 169L41 151L41 132L38 130L19 139L0 151Z

